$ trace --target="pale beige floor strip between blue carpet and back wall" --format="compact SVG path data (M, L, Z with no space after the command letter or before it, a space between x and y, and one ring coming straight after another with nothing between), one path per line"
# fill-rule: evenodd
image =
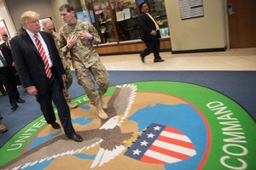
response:
M154 63L153 54L102 56L108 71L256 71L256 48L232 48L224 52L172 54L160 53L165 62Z

